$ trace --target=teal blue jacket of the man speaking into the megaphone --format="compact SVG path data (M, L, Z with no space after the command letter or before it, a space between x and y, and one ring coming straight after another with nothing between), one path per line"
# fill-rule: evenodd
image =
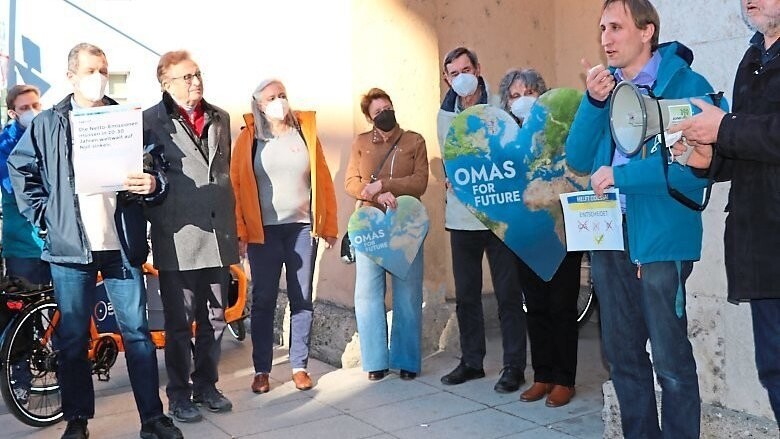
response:
M661 65L653 93L665 99L688 98L712 92L703 76L691 70L693 52L673 42L658 48ZM566 140L568 165L579 173L611 166L614 143L609 128L609 101L602 106L586 93ZM630 162L613 168L615 187L626 195L626 227L631 261L637 266L660 261L697 261L701 257L701 213L669 195L661 147L651 139ZM671 186L701 202L707 180L691 168L669 165Z

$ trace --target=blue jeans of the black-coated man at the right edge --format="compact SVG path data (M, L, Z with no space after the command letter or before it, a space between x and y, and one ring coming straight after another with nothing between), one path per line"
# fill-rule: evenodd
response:
M758 379L780 426L780 299L751 300Z

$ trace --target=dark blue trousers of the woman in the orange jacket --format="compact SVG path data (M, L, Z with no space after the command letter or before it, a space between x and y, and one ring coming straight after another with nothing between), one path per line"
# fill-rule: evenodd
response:
M306 368L314 316L312 278L317 241L310 224L265 226L265 244L249 244L252 269L252 362L255 372L271 372L274 316L282 266L287 273L290 301L290 365Z

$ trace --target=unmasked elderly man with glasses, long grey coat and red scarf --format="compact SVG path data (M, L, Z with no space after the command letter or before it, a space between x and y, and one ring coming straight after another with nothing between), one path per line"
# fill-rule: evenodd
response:
M165 315L166 392L174 419L197 422L198 406L232 409L216 388L230 265L238 262L230 119L203 99L203 77L188 52L164 54L157 79L162 100L144 111L144 141L163 147L170 192L146 212Z

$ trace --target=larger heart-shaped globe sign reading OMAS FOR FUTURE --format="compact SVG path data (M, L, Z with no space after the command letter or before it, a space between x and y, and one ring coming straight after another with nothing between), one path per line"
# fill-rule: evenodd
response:
M452 122L444 166L455 196L536 274L550 280L566 255L561 193L589 175L566 164L565 142L582 92L552 89L520 128L509 113L476 105Z

